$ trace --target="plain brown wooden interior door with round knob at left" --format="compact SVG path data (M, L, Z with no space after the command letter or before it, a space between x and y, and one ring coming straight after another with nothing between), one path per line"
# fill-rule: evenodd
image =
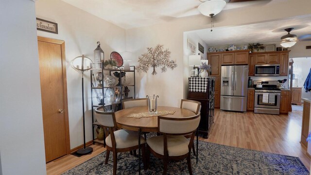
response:
M46 162L70 153L64 41L38 37Z

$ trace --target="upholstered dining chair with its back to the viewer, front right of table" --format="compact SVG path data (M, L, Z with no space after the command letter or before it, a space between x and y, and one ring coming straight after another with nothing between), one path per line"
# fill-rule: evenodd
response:
M158 116L157 124L161 136L147 139L147 165L149 166L150 153L163 159L163 175L167 174L169 160L181 160L187 157L189 174L191 169L191 145L200 123L200 112L187 118L168 118ZM191 135L190 141L184 135Z

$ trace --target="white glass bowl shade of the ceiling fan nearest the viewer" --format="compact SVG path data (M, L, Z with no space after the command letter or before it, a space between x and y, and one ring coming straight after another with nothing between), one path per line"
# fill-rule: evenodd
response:
M205 16L213 17L223 10L225 4L224 0L207 0L199 5L198 10Z

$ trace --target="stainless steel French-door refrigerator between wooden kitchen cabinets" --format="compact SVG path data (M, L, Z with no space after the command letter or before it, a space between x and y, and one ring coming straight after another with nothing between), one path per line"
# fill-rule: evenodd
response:
M220 109L246 112L248 66L222 66Z

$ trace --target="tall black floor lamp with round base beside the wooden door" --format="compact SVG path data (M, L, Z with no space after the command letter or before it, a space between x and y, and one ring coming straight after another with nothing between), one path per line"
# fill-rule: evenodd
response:
M82 114L83 114L83 141L84 141L84 147L78 149L78 151L76 152L79 155L87 155L91 152L93 152L93 148L91 147L86 147L86 126L85 126L85 111L84 111L84 84L83 84L83 73L87 70L92 69L92 60L89 59L88 57L82 55L82 56L78 56L75 57L72 61L71 61L71 65L72 67L79 71L82 72Z

